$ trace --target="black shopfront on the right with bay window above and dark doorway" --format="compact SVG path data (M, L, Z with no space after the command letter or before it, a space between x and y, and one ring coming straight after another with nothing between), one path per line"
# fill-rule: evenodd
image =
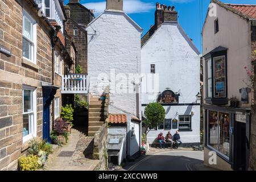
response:
M233 103L228 98L227 51L228 48L217 47L204 56L204 143L208 150L215 151L232 169L247 170L250 109L239 108L237 102L241 101Z

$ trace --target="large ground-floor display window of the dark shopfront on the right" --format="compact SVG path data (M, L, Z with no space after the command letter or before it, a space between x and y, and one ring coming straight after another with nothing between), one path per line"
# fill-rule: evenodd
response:
M228 113L209 111L208 144L229 157L229 123Z

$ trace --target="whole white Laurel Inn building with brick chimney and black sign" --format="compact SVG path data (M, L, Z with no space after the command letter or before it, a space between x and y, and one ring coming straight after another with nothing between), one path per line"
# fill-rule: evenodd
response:
M156 80L148 90L148 76L142 79L142 113L150 102L161 102L166 119L147 134L152 144L158 134L168 131L186 146L200 144L200 52L177 22L174 7L156 3L155 25L142 38L141 72Z

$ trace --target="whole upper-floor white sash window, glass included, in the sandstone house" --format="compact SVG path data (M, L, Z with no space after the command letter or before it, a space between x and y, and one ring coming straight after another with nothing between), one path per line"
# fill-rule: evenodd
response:
M23 11L22 54L27 60L36 63L36 22L26 11Z

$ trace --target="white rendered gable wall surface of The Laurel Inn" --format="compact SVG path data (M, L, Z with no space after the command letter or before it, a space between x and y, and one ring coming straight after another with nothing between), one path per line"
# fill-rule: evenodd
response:
M177 23L163 23L142 48L142 73L150 73L150 64L155 64L159 74L159 88L155 93L142 93L142 104L155 102L159 92L170 88L179 92L180 104L196 102L200 92L200 55L188 36ZM142 86L146 80L143 78ZM183 143L200 142L200 106L164 106L166 119L179 119L179 115L192 115L192 131L180 131ZM144 107L142 107L144 113ZM147 138L152 143L160 132L150 131ZM172 135L175 130L171 130Z

